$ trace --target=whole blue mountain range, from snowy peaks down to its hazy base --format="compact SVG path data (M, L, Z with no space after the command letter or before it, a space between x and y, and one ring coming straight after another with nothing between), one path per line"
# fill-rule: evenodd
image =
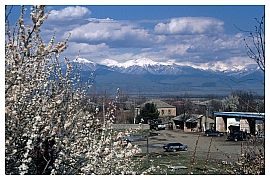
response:
M113 94L120 88L134 95L228 95L235 90L264 95L264 73L256 65L206 68L145 58L124 63L107 59L102 64L77 58L72 63L81 66L83 81L94 74L95 93Z

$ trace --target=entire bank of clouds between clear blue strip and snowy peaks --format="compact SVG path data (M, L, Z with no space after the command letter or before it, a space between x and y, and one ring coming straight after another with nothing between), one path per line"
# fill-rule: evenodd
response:
M238 58L246 55L243 35L226 34L224 22L219 19L178 17L167 22L147 22L151 26L146 26L145 22L90 18L90 14L91 11L82 6L52 10L43 33L51 37L55 32L61 40L71 33L66 54L75 57L79 53L97 63L115 64L115 61L125 63L149 58L224 70L247 64ZM237 58L229 61L232 57Z

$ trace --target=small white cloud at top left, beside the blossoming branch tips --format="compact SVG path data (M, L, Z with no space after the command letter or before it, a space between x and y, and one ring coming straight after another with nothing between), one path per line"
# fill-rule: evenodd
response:
M86 17L91 11L82 6L69 6L62 10L52 10L49 14L49 21L72 20Z

